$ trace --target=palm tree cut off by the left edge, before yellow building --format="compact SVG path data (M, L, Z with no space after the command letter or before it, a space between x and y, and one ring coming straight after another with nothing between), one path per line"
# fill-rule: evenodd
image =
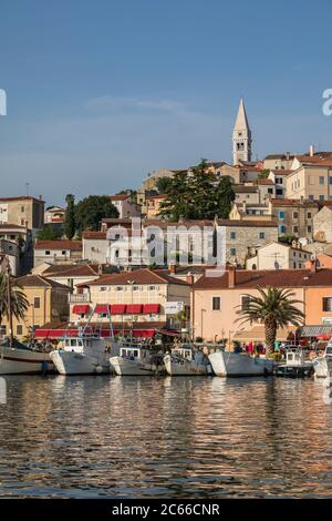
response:
M10 277L9 269L0 273L0 326L3 317L10 323L10 337L12 344L12 324L14 316L18 320L23 319L29 308L29 300L21 286L14 278Z

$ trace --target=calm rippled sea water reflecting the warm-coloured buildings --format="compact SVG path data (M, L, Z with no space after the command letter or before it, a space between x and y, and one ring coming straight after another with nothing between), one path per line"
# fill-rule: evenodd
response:
M7 377L0 497L332 497L313 380Z

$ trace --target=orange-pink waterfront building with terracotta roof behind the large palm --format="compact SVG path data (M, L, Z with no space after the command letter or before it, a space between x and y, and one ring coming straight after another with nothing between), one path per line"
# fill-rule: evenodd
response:
M332 329L332 269L274 269L246 270L227 269L221 277L203 276L193 286L191 292L191 330L194 337L217 341L263 340L263 328L258 324L242 324L237 310L245 305L247 295L258 296L258 287L276 286L290 289L300 300L299 308L305 315L307 331L325 333ZM291 325L279 331L284 340ZM259 333L258 333L259 331ZM257 337L260 336L260 338ZM315 335L307 335L315 336Z

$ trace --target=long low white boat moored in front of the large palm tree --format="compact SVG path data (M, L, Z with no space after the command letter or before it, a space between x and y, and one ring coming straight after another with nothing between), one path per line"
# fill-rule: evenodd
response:
M274 361L268 358L224 349L210 353L209 360L215 375L225 377L268 376L274 367Z

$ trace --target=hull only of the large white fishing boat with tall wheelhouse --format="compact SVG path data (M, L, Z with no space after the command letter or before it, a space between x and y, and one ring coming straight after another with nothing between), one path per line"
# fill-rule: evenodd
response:
M101 375L110 372L106 354L92 356L59 349L51 354L51 359L60 375Z

